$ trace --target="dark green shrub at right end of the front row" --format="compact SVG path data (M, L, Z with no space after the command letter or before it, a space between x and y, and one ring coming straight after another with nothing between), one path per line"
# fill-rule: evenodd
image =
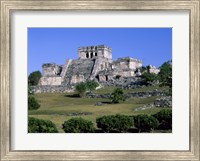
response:
M172 129L172 109L162 109L160 112L154 114L153 116L157 118L160 123L158 129Z

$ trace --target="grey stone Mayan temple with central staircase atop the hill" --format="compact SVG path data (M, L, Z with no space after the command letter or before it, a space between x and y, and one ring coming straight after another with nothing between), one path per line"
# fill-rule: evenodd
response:
M106 45L79 47L76 60L68 59L64 65L43 64L43 76L39 85L42 89L41 86L69 87L86 80L105 83L116 76L136 77L141 74L141 67L142 61L131 57L112 60L112 49ZM152 73L159 72L154 66L150 67Z

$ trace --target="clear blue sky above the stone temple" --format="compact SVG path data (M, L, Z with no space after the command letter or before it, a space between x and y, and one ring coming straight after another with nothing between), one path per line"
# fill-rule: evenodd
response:
M172 59L172 28L29 28L28 73L78 58L78 47L105 44L113 60L133 57L159 67Z

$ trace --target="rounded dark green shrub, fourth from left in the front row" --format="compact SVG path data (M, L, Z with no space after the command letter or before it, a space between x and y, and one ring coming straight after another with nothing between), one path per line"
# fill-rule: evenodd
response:
M133 118L134 118L134 125L136 128L138 128L139 132L153 131L159 125L158 120L153 116L141 114L141 115L134 116Z

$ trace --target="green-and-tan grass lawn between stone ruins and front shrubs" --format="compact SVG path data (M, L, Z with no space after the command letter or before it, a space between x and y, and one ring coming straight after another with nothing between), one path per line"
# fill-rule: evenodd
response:
M127 90L127 92L134 91L147 91L161 89L161 87L146 87L141 89ZM162 87L163 89L163 87ZM110 93L112 88L99 89L96 93ZM100 98L79 98L74 97L73 94L59 94L59 93L41 93L35 94L36 99L40 103L38 110L29 111L29 116L51 120L54 122L59 132L62 130L62 124L64 121L72 117L82 117L87 120L91 120L95 123L96 118L103 115L112 114L125 114L125 115L137 115L137 114L154 114L160 111L161 108L152 108L141 111L134 111L135 108L141 107L144 104L152 103L156 97L148 98L132 98L119 104L109 104L110 100ZM108 102L103 106L95 106L96 102ZM78 116L75 116L78 115Z

